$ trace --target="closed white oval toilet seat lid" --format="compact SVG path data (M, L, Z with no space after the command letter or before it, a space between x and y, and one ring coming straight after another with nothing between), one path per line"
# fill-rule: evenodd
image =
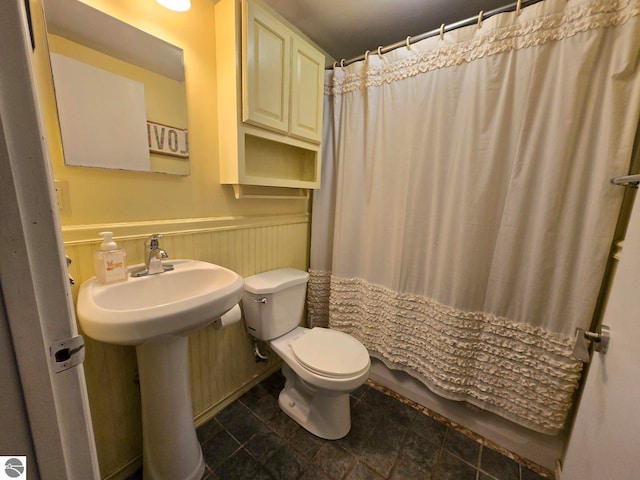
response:
M295 359L307 370L324 377L348 378L365 372L369 352L350 335L327 328L307 330L290 343Z

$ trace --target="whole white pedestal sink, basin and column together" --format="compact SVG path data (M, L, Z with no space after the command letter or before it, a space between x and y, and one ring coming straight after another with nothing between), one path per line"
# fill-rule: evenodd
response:
M84 282L78 319L91 338L136 346L144 479L199 480L205 467L191 409L188 335L235 307L244 281L211 263L171 263L172 271L122 283Z

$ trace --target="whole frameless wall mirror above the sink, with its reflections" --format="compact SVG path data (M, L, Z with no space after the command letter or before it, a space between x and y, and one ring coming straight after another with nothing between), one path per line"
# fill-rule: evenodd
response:
M78 0L45 0L70 166L189 174L182 49Z

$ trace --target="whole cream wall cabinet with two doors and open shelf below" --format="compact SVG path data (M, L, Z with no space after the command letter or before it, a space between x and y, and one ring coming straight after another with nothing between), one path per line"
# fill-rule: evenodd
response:
M319 188L324 55L255 0L215 18L220 182Z

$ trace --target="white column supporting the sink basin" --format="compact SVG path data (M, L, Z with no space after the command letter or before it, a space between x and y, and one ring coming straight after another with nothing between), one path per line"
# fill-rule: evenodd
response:
M187 336L136 346L142 397L144 480L200 480L204 458L193 424Z

